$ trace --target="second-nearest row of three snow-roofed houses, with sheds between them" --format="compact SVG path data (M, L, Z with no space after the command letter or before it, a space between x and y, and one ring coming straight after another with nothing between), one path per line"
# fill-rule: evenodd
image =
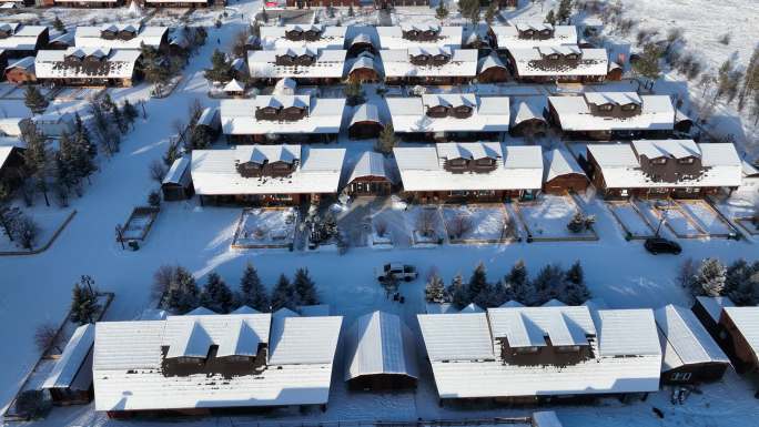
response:
M691 150L688 156L671 154L684 148ZM694 199L732 191L742 181L742 163L728 143L590 144L578 159L564 149L499 142L396 146L392 156L363 152L351 161L342 148L236 145L193 151L172 167L163 191L169 200L198 194L210 204L298 205L338 192L462 203L584 192L590 183L606 199Z

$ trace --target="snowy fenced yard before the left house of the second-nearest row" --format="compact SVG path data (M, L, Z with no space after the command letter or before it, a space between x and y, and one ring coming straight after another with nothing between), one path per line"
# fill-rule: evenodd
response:
M235 240L237 247L286 247L295 238L297 211L287 209L243 210Z

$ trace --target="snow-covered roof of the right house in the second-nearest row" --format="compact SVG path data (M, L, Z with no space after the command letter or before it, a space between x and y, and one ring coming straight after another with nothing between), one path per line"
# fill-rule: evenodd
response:
M692 142L692 141L691 141ZM652 181L644 173L631 144L589 144L587 150L598 163L604 174L604 182L609 189L647 189L647 187L720 187L740 186L742 181L740 159L735 145L730 143L690 144L679 140L647 141L642 146L659 146L669 152L682 151L684 144L689 146L688 153L700 152L701 165L706 167L699 176L684 176L676 182ZM654 153L660 153L660 150Z

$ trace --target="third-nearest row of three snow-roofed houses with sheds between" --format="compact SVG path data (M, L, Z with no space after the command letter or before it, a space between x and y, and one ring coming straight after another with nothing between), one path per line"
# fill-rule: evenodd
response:
M277 88L295 88L285 79ZM230 89L231 90L231 89ZM285 91L285 90L283 90ZM279 92L275 90L275 92ZM286 93L222 100L223 133L234 143L330 142L377 138L393 125L402 140L476 141L546 134L549 128L575 140L666 139L687 134L692 122L668 95L588 92L566 96L480 96L472 93L388 96L357 106L345 99Z

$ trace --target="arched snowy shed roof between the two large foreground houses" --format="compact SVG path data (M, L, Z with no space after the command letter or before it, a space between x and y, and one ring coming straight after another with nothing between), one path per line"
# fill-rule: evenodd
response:
M397 315L374 312L358 317L345 345L345 380L378 374L418 378L414 335Z

